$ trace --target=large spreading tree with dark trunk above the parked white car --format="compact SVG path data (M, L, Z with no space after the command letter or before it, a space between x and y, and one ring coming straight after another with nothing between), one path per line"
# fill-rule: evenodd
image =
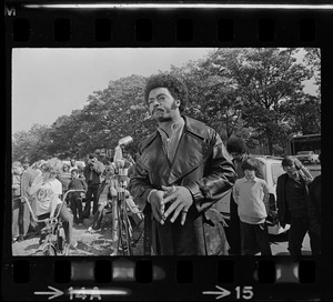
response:
M226 68L225 72L236 81L243 101L244 125L254 129L255 139L268 142L270 154L273 145L289 135L290 127L282 122L285 121L285 104L303 90L302 82L311 77L304 66L295 62L294 53L293 50L266 48L219 49L212 54L216 68Z

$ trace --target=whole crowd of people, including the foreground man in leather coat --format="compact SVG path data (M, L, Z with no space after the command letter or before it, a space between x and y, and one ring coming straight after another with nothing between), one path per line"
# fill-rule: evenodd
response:
M144 97L157 130L139 143L135 162L129 161L125 199L138 220L148 218L145 230L154 234L148 238L155 254L271 255L269 218L281 226L290 224L291 255L302 254L306 233L312 254L321 253L321 177L313 180L295 157L284 157L276 210L271 210L261 162L249 154L244 140L232 138L224 144L214 129L183 114L188 90L182 81L170 74L152 76ZM105 207L111 208L117 242L117 161L103 164L91 153L84 168L73 159L69 165L60 162L52 159L31 167L26 160L13 162L13 241L23 240L33 226L18 197L36 203L41 218L54 213L68 190L81 190L69 194L69 207L61 212L69 245L75 246L72 225L90 218L88 231L99 230ZM230 190L226 223L216 205Z

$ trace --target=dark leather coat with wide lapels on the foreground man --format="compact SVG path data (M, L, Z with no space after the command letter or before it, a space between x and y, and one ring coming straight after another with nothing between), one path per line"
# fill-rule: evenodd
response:
M169 162L158 131L140 143L129 190L144 211L150 210L147 198L152 189L174 184L191 191L193 204L185 224L180 224L179 215L174 223L168 219L164 225L157 225L162 254L225 254L229 246L223 218L213 205L234 184L234 167L213 129L183 118L184 130L173 162Z

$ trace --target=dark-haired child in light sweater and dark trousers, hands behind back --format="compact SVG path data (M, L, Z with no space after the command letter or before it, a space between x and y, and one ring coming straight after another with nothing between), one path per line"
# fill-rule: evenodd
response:
M244 178L236 180L233 187L234 201L241 220L242 255L255 254L255 242L260 246L261 255L272 255L268 226L270 193L264 180L255 177L259 169L254 159L242 162Z

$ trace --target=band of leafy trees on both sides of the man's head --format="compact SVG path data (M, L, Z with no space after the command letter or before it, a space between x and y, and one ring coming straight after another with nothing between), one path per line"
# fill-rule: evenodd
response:
M320 52L305 49L214 49L205 58L170 68L170 73L189 89L185 114L205 122L223 140L242 137L252 148L266 145L269 153L283 150L294 133L321 132L321 99L306 94L304 81L320 85ZM129 147L155 129L147 110L143 89L147 79L130 76L110 81L104 90L87 98L81 110L59 117L51 127L34 124L12 137L12 158L31 161L59 157L83 158L87 153L109 150L131 135ZM110 152L111 150L111 152Z

